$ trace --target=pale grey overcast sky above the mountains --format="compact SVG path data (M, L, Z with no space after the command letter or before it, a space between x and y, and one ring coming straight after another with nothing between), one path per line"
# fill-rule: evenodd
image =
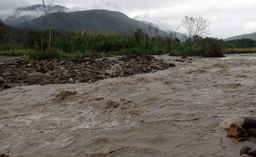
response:
M38 3L41 0L0 0L0 16ZM55 0L55 5L73 11L120 11L136 20L154 22L163 30L175 30L184 16L201 16L211 22L210 36L223 39L256 32L256 0Z

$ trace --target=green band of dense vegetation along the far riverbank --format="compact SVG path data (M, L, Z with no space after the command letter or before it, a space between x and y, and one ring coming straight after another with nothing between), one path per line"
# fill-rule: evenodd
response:
M52 47L48 47L49 31L13 28L0 22L0 53L25 54L31 59L79 58L99 54L171 53L174 56L200 55L215 57L227 48L253 48L256 41L240 39L224 42L222 39L194 36L180 42L172 35L150 37L138 28L131 35L75 31L52 31ZM253 50L253 49L251 49Z

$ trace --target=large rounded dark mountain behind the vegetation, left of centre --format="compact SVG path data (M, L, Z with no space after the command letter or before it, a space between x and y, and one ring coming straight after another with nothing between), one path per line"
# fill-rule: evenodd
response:
M50 19L61 17L52 24L52 27L58 30L90 30L103 32L119 32L120 34L131 34L136 28L145 28L149 33L149 24L134 20L118 11L108 10L88 10L76 11L70 13L53 13L48 15ZM36 29L47 29L46 17L41 16L29 22L15 25L17 27L29 27ZM154 35L154 34L153 34ZM165 31L159 30L160 36L168 36Z

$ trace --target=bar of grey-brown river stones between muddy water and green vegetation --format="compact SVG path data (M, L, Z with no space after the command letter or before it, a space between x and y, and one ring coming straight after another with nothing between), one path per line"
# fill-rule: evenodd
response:
M154 56L105 56L97 59L64 59L26 62L17 57L0 64L0 90L32 84L74 84L95 82L105 78L154 73L175 67Z

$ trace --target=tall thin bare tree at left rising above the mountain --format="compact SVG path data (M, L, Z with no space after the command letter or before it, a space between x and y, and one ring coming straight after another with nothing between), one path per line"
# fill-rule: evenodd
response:
M55 18L53 18L52 20L50 20L50 17L48 17L48 14L52 12L52 5L54 3L53 0L42 0L43 2L43 5L44 5L44 13L45 13L45 16L46 16L46 22L47 22L47 25L48 25L48 28L49 28L49 42L48 42L48 45L49 45L49 48L51 47L51 43L52 43L52 39L53 39L53 36L52 36L52 23L58 19L58 18L61 18L61 17L58 17L58 16L55 16ZM47 4L46 4L47 3Z

